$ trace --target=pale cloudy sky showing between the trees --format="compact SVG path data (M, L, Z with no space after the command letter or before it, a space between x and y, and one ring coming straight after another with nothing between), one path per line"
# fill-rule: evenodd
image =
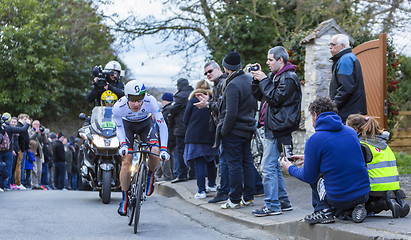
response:
M165 13L162 11L161 1L156 0L111 0L114 4L109 6L101 6L99 10L106 15L113 13L121 17L129 14L138 14L147 16L149 14L162 16ZM411 23L408 24L401 32L394 33L394 45L399 53L411 56ZM160 40L155 37L139 38L131 43L131 48L126 50L125 47L116 49L119 52L119 58L127 66L126 71L131 72L132 79L142 81L146 86L151 87L175 87L176 79L179 76L181 67L185 64L185 59L181 55L166 57L162 54L165 49L164 44L159 44ZM193 56L190 63L194 64L194 72L192 78L188 79L191 85L200 79L205 79L203 75L204 55Z

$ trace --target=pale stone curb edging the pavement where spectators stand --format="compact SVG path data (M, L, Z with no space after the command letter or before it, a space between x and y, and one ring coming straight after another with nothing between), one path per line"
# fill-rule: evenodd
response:
M248 227L268 231L277 237L298 237L298 239L324 239L324 240L368 240L368 239L411 239L407 234L391 233L379 229L361 227L351 222L333 224L310 225L300 219L299 221L276 221L270 217L258 218L252 214L245 214L231 209L221 209L220 204L210 204L201 199L195 199L193 193L182 184L170 182L156 183L157 193L167 197L180 199L210 211L218 216L236 221ZM252 211L251 207L247 207Z

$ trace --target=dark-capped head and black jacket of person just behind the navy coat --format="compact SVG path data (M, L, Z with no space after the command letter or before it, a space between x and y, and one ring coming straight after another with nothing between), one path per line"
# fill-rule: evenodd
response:
M183 122L184 111L186 110L188 96L194 90L188 85L187 79L185 81L177 81L177 93L174 94L174 102L171 104L170 113L171 121L174 123L174 135L185 136L186 125Z

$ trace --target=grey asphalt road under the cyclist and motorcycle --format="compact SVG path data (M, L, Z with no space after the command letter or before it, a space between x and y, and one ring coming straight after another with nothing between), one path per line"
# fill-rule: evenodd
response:
M186 203L154 193L142 206L139 231L117 214L121 194L103 204L97 192L0 193L0 239L277 239Z

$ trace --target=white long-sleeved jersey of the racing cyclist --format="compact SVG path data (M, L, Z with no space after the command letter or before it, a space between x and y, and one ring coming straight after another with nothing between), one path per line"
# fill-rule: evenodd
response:
M160 108L158 107L157 100L149 95L146 94L143 99L143 104L139 111L133 112L128 106L128 100L126 96L123 96L118 100L113 106L113 115L114 115L114 122L116 123L116 133L117 138L120 141L120 145L123 143L130 142L130 139L126 139L125 130L129 130L129 128L125 129L125 124L123 122L127 122L136 125L143 125L144 121L154 116L155 121L157 122L160 130L160 139L161 139L161 150L167 150L167 141L168 141L168 129L167 125L164 121L163 114L161 113ZM129 148L132 148L132 141L131 146L127 143Z

